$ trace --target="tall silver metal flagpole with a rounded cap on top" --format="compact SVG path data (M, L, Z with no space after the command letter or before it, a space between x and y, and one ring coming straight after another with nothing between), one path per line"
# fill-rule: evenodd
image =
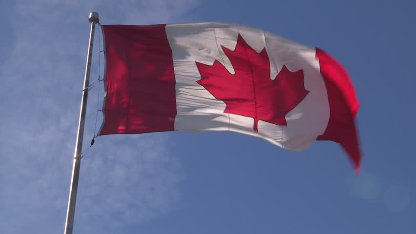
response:
M77 140L75 142L75 153L72 165L71 187L69 188L68 210L66 212L64 234L72 234L75 216L75 202L77 200L78 178L80 176L81 153L83 150L83 135L85 126L86 103L88 98L89 74L91 68L92 44L94 42L95 24L99 22L98 13L90 12L88 21L91 23L89 34L88 54L85 67L83 97L81 99L80 119L78 122Z

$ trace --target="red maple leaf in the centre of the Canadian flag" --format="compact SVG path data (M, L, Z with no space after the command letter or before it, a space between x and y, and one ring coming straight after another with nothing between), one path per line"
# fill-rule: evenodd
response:
M287 125L286 115L309 93L304 87L303 70L289 71L283 66L275 79L270 78L270 60L263 49L254 51L238 35L234 51L221 46L234 68L235 74L217 60L212 66L196 62L201 79L196 81L227 107L224 113L254 118L276 125Z

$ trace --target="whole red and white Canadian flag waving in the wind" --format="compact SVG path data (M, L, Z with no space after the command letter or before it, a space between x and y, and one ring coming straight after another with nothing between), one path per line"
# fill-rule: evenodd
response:
M104 25L100 135L232 131L303 151L341 144L358 170L358 100L321 49L231 23Z

